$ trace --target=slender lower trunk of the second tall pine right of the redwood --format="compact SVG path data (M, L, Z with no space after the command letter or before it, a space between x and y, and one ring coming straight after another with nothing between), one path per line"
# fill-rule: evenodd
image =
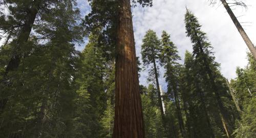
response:
M177 108L177 115L178 115L178 120L179 120L181 136L186 137L186 132L185 132L184 122L183 122L183 118L182 118L182 114L181 114L180 102L179 102L179 97L177 94L176 86L173 85L173 89L174 89L174 98L175 98L175 104L176 104L176 108Z

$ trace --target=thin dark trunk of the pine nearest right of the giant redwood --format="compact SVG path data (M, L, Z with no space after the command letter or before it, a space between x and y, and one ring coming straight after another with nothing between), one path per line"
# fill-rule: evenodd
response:
M163 105L162 105L161 92L160 92L160 87L159 87L158 74L157 74L157 66L156 66L155 58L153 59L153 63L154 63L154 73L155 73L156 85L157 85L158 104L159 104L160 111L161 111L162 121L164 123L164 112L163 112ZM165 124L163 124L163 125L165 126Z

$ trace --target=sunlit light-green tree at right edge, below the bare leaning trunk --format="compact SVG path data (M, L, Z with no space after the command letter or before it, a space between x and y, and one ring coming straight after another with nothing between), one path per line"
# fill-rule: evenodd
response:
M237 123L234 131L236 137L253 137L255 131L255 91L256 60L248 54L248 65L245 68L237 68L237 78L231 80L231 86L237 91L236 97L242 107L241 121Z

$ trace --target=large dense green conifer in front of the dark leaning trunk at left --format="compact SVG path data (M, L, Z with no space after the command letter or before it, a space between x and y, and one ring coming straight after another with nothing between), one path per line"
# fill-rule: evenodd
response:
M54 16L44 22L48 26L35 27L48 41L39 44L37 36L30 37L19 51L26 58L21 58L19 67L8 74L11 84L2 85L1 90L9 92L4 97L8 97L8 108L1 116L5 120L1 128L4 137L67 136L70 132L78 64L74 43L81 40L81 28L76 22L79 11L75 3L57 4L51 12ZM50 27L56 29L47 30ZM14 48L12 44L6 46Z

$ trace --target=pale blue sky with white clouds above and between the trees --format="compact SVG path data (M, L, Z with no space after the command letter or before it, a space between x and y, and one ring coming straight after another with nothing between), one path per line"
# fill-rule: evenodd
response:
M238 18L240 22L250 22L243 25L252 42L255 42L256 1L245 0L245 3L248 5L247 10L241 7L233 7L235 8L233 11L237 16L243 15ZM212 47L214 47L216 61L221 63L221 73L228 79L236 78L237 66L244 67L247 64L247 46L224 7L220 3L215 6L209 5L208 0L154 0L153 7L142 8L138 6L133 8L137 56L141 56L140 45L148 29L154 30L159 38L163 30L169 33L182 59L184 58L185 50L192 51L192 44L185 34L185 6L198 17L202 25L202 31L207 33L208 39ZM86 0L78 0L78 7L81 9L82 16L90 12L90 6ZM88 41L86 40L86 42ZM82 44L78 49L82 50L84 45L86 43ZM160 72L160 84L166 89L163 79L164 72L162 69ZM147 76L147 71L141 73L141 84L148 85Z

